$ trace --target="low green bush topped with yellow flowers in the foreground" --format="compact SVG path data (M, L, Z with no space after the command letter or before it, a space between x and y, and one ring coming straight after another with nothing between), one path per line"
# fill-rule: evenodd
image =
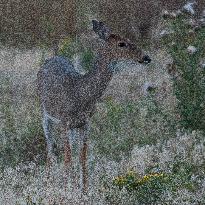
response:
M176 158L169 173L148 172L146 175L139 176L134 171L128 171L115 177L112 185L107 186L109 190L107 191L112 193L110 195L107 193L107 200L111 202L112 198L124 194L129 204L171 204L169 199L164 198L166 194L173 197L177 196L180 190L188 190L193 194L198 191L201 182L199 179L198 181L192 179L192 176L195 174L199 177L202 169L202 166L193 166ZM122 203L121 200L118 201L119 204Z

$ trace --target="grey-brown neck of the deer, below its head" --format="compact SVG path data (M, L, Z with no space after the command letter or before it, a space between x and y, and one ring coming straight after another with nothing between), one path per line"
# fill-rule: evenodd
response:
M98 55L93 69L84 76L84 88L90 100L95 101L103 95L113 77L115 65L116 61L110 56L104 53Z

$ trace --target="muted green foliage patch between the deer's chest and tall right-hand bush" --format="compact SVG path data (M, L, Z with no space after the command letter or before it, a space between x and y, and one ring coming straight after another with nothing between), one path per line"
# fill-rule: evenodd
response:
M148 95L137 102L107 99L92 120L91 139L97 153L120 160L134 145L156 144L175 135L177 121L171 111ZM101 137L97 137L101 135Z

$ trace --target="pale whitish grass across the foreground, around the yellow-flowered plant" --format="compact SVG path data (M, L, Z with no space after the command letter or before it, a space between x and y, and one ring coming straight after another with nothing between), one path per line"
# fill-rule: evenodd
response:
M65 192L62 164L53 168L50 179L47 178L44 167L36 166L34 163L18 165L15 169L7 168L1 172L0 203L2 205L49 204L49 202L51 204L83 204L83 202L86 204L138 204L135 195L129 195L125 190L115 189L112 186L113 179L129 169L143 176L148 172L147 170L154 171L155 169L156 171L157 168L167 174L177 169L174 180L179 183L175 191L174 180L172 179L170 184L167 183L162 202L157 204L203 204L205 184L201 167L204 166L204 149L204 138L200 133L178 133L175 139L163 144L159 142L156 146L136 146L129 160L116 163L96 157L95 168L90 173L92 186L87 196L82 196L80 190L74 191L69 183ZM179 163L180 167L178 167ZM183 179L188 172L185 165L198 167L192 172L190 179ZM188 184L193 187L190 185L189 188Z

